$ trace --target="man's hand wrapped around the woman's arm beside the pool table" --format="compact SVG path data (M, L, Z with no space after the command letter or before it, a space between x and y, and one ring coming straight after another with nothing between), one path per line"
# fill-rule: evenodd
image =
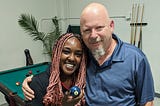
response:
M34 91L28 85L32 81L32 77L26 77L22 83L22 91L26 100L32 100L34 98Z

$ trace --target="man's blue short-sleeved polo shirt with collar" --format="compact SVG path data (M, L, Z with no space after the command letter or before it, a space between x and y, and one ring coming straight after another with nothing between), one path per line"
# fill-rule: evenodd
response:
M154 99L154 83L146 56L137 47L122 42L99 66L89 55L86 106L138 106Z

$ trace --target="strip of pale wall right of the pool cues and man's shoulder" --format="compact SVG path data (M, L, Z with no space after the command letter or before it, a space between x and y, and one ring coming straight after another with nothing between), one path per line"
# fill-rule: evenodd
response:
M148 26L145 27L145 31L143 33L143 47L144 52L146 53L152 67L155 89L158 93L160 93L160 48L159 48L159 40L160 40L160 1L159 0L146 0L146 22L148 22Z

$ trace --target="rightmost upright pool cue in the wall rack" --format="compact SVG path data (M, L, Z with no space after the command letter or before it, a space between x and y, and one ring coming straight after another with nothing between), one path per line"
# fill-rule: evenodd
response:
M139 41L138 41L138 48L140 48L140 49L142 49L142 21L143 21L143 13L144 13L144 4L142 6L141 25L140 25L140 33L139 33Z

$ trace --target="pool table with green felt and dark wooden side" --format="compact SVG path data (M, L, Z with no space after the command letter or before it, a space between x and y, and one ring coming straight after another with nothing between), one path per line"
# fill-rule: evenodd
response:
M16 106L25 106L21 89L23 80L27 76L45 71L49 64L49 62L43 62L0 72L0 91L5 95L7 102Z

